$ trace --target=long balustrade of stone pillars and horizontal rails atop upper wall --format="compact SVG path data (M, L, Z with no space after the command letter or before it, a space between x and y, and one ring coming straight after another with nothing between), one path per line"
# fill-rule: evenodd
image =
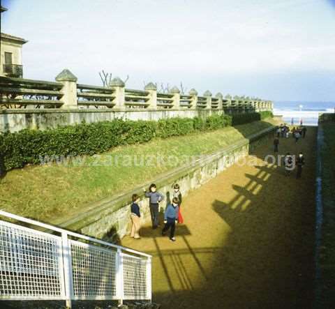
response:
M168 110L168 109L212 109L228 112L248 112L251 103L248 98L226 96L210 91L198 96L195 89L181 93L177 87L171 92L160 93L156 84L150 82L144 90L127 89L125 83L115 77L109 86L77 84L77 77L69 70L63 70L56 77L57 82L25 80L0 77L0 107L5 108L96 108L114 110ZM272 110L272 103L257 99L255 109Z

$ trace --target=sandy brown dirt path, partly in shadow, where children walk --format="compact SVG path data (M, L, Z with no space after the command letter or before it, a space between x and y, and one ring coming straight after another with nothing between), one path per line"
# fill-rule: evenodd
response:
M154 255L154 301L164 309L311 308L315 133L280 140L280 153L304 152L301 179L265 164L269 141L251 153L255 166L235 164L184 199L175 243L150 227L138 241L122 240Z

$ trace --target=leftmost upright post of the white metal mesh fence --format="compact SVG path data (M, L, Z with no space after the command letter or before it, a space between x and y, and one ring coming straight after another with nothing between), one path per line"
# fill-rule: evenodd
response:
M68 243L68 234L66 232L61 233L61 243L63 248L66 308L71 308L71 299L73 298L72 259L71 248Z

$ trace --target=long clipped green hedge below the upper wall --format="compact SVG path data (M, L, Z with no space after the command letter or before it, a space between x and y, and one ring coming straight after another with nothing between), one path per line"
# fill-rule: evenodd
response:
M84 156L115 146L149 142L154 137L188 135L257 121L271 112L161 119L159 121L101 121L47 130L24 129L0 134L0 172L40 163L45 156Z

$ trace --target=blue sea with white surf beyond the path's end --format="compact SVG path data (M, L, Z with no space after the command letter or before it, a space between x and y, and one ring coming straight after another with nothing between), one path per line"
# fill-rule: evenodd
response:
M318 126L319 114L334 112L335 102L274 101L274 114L288 124Z

